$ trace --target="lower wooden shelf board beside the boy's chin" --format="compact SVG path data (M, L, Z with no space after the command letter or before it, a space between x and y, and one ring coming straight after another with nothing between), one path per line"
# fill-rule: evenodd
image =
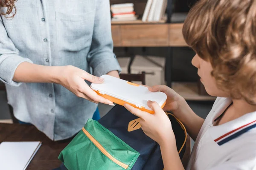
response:
M213 96L199 95L196 82L173 82L172 89L186 100L214 101L216 99L216 97Z

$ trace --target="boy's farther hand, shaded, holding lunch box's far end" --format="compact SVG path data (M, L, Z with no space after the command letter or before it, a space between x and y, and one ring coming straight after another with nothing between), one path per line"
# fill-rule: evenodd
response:
M180 103L183 101L183 97L177 94L172 88L169 88L166 85L156 85L151 88L148 88L151 92L161 91L167 95L166 105L164 106L164 111L175 112L180 108Z

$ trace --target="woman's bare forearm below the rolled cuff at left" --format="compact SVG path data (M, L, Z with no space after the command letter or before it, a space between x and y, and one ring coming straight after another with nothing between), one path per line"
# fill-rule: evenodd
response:
M60 67L36 65L22 62L16 69L13 80L16 82L58 83Z

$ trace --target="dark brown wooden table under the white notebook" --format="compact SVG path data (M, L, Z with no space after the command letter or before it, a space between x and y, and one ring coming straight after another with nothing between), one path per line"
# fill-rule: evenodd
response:
M21 141L42 142L26 170L52 170L61 165L58 155L71 139L53 142L33 125L0 124L0 142Z

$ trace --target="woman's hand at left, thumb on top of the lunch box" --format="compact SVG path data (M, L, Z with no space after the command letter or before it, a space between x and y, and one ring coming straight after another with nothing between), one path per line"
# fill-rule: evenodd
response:
M105 103L107 105L113 105L113 102L105 99L102 96L96 94L84 80L88 80L92 83L103 83L104 79L93 76L86 71L67 65L59 67L57 83L67 88L69 91L76 94L78 97L82 97L94 103Z

